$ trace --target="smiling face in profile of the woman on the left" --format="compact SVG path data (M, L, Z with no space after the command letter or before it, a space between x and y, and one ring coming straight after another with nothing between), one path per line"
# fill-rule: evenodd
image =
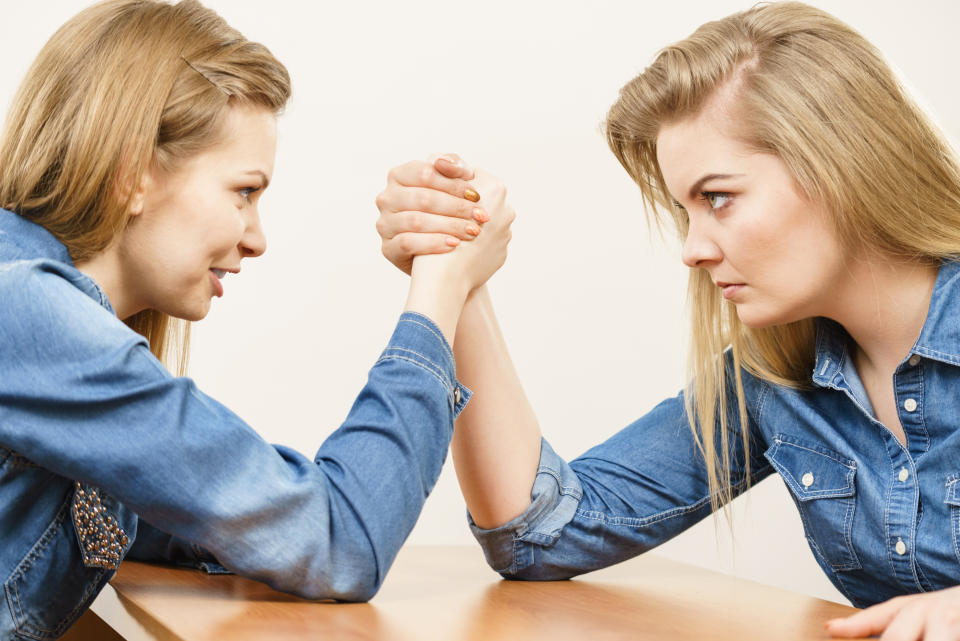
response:
M152 168L120 247L133 308L200 320L222 278L266 250L257 206L273 175L276 118L230 107L223 138L172 173Z

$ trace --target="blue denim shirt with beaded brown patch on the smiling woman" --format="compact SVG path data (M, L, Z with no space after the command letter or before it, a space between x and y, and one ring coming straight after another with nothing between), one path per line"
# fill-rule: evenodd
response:
M311 460L171 376L61 243L4 210L0 301L0 639L62 635L124 557L369 599L470 395L437 327L403 314Z

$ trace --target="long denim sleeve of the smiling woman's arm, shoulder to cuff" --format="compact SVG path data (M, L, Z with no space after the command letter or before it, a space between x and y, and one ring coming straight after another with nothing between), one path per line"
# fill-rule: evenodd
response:
M401 317L311 460L170 376L69 278L82 276L22 265L0 274L0 443L101 488L238 574L308 598L370 598L469 397L439 328Z

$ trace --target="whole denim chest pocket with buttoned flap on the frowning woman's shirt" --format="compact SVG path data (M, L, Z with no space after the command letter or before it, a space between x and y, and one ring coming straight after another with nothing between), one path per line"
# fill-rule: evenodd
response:
M790 489L814 553L833 570L859 570L852 537L856 461L783 434L764 456Z

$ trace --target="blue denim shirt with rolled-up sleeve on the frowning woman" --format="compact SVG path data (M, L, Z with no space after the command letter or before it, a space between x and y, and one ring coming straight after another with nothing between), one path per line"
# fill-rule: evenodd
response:
M865 607L960 583L960 264L943 263L923 330L893 377L906 445L879 423L843 328L818 320L809 389L750 376L752 482L789 488L817 562ZM731 394L728 406L736 407ZM739 427L734 414L731 425ZM731 461L743 461L736 435ZM746 486L742 463L731 473ZM683 395L565 462L544 441L531 504L474 535L504 577L561 579L641 554L710 513Z

